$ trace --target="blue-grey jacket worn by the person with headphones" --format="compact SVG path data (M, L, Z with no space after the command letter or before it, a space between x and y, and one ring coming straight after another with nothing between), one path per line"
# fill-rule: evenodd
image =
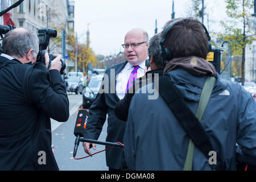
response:
M168 73L195 114L207 76L196 77L179 68ZM153 85L154 87L154 85ZM256 104L238 84L217 75L212 95L201 119L224 168L236 170L236 161L256 164ZM131 100L124 151L127 166L135 170L182 170L189 137L159 95L137 93ZM212 170L197 147L193 170Z

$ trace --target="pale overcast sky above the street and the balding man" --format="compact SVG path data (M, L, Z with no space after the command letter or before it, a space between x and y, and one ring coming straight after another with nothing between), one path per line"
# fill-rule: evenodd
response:
M204 16L205 27L221 31L220 20L226 18L224 0L204 0L209 14ZM174 0L175 18L191 15L191 0ZM104 56L123 51L125 34L133 28L142 28L150 38L171 19L171 0L75 0L75 32L80 43L86 43L89 23L90 47L96 55Z

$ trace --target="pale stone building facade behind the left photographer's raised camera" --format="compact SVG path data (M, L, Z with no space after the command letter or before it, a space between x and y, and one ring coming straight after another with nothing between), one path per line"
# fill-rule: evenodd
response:
M10 0L1 1L10 3ZM18 0L12 1L15 3ZM61 30L68 31L69 22L73 21L73 17L69 20L70 9L72 10L69 7L70 2L74 7L75 2L69 0L26 0L12 10L13 21L16 28L28 28L36 34L40 28L55 28L59 30L58 36L61 37ZM61 42L51 39L48 52L61 54Z

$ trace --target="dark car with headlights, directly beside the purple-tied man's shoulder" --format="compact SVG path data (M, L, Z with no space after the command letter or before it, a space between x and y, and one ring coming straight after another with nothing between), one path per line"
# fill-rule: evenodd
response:
M103 76L104 75L97 75L90 78L90 81L82 94L82 107L84 109L88 109L94 102L98 90L100 89Z

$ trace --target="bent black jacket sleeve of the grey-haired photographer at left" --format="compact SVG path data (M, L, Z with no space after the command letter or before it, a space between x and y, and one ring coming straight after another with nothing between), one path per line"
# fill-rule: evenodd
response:
M44 65L34 67L28 78L32 102L50 118L65 122L69 118L69 101L60 72L47 71Z

